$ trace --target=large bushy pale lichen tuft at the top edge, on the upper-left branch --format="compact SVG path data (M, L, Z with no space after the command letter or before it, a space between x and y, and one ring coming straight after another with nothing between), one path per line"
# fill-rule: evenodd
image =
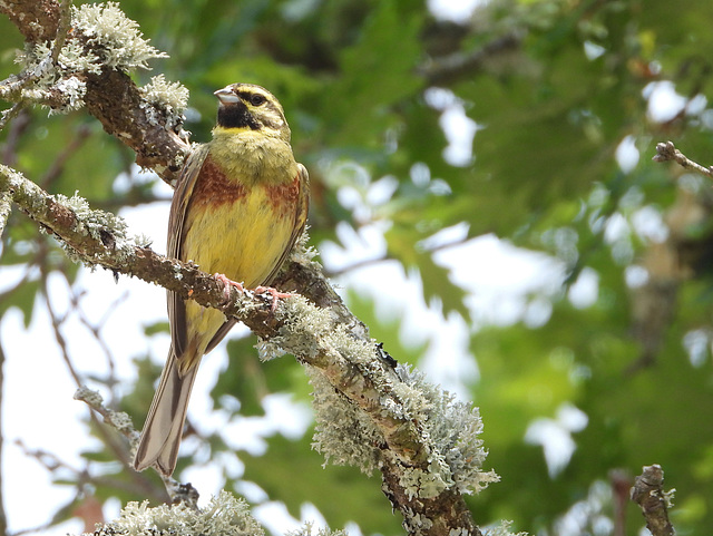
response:
M116 2L72 6L71 21L108 67L148 69L148 60L168 57L144 39L138 23L124 14Z

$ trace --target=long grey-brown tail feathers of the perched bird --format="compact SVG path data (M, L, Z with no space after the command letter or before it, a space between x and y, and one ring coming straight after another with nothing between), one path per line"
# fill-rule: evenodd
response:
M134 468L137 471L154 466L164 476L173 474L197 371L198 363L195 363L185 373L180 373L178 359L170 350L134 457Z

